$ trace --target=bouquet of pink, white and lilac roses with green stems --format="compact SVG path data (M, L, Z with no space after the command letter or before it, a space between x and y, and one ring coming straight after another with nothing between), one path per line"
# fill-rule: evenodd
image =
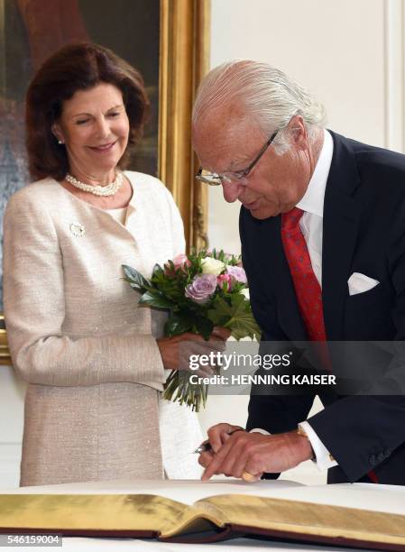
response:
M222 250L181 254L163 267L156 264L149 280L130 266L123 268L125 280L141 293L141 305L169 312L165 336L193 332L208 340L214 327L226 327L237 340L259 338L240 256ZM206 404L207 385L189 382L189 375L172 370L163 397L198 411Z

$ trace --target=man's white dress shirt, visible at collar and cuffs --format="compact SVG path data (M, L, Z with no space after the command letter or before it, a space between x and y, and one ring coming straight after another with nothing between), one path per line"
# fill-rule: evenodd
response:
M299 220L299 227L307 243L309 258L312 270L322 288L322 234L324 217L325 189L327 188L327 177L333 155L333 139L327 130L324 130L324 143L319 154L315 170L309 180L308 189L304 197L299 201L297 207L304 211ZM319 439L308 421L299 423L308 436L309 442L316 456L316 465L320 470L337 465L332 459L327 447ZM255 428L253 432L264 433L261 428Z

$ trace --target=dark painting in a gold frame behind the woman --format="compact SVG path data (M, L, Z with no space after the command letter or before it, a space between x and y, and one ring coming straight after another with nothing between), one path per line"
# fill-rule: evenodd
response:
M0 232L8 198L30 181L23 100L32 74L64 44L93 41L139 69L151 99L130 168L165 182L188 247L207 246L207 190L194 178L190 115L208 66L209 7L209 0L0 0ZM0 311L2 287L1 279ZM6 343L1 317L2 364L11 363Z

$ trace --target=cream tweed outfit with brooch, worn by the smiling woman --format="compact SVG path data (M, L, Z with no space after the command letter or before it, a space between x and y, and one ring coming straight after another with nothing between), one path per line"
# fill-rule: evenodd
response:
M158 179L125 174L124 225L53 179L6 207L5 320L28 382L22 485L200 473L195 414L160 400L167 371L155 337L165 315L138 307L121 268L149 276L183 252L183 226Z

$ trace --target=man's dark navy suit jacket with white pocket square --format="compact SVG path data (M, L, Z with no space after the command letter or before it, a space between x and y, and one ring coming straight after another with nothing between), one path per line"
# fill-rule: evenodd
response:
M405 155L332 137L322 253L327 339L405 340ZM262 339L308 339L282 248L281 216L256 220L242 207L240 235ZM353 272L380 283L349 296ZM405 397L320 398L325 409L309 423L338 463L328 483L369 481L373 470L379 483L405 484ZM247 428L292 430L307 419L313 399L252 395Z

